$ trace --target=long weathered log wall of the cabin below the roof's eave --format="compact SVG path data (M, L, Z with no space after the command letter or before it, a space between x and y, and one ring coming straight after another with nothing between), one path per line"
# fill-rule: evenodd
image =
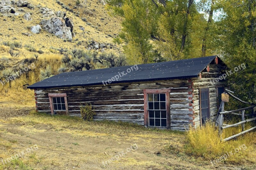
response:
M98 87L36 89L39 112L51 113L48 93L67 93L69 115L80 116L80 106L91 103L94 120L121 120L144 125L143 89L170 88L171 129L188 129L193 125L191 80L166 80L123 83Z

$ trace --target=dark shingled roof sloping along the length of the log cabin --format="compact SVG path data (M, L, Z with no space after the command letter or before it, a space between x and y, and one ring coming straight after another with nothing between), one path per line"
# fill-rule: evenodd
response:
M197 77L216 57L217 56L209 56L161 63L141 64L137 65L138 69L135 65L65 72L28 86L28 89L103 85L102 81L108 81L108 79L111 79L116 75L121 75L122 77L112 81L111 84ZM131 67L133 68L133 71L128 73L130 71L129 68ZM122 72L127 74L123 75Z

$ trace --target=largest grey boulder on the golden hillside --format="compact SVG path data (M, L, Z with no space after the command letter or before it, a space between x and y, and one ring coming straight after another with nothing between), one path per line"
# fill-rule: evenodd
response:
M62 39L67 39L68 41L72 40L70 27L66 26L64 19L60 17L52 17L48 20L44 19L41 24L49 33L59 36Z

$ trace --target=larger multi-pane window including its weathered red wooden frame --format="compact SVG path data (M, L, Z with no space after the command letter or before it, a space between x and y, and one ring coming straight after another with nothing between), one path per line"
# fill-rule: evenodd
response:
M144 89L145 127L170 128L170 89Z

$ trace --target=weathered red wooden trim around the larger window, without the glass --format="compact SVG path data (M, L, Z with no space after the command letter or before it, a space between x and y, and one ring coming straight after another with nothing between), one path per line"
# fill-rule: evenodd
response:
M144 89L144 126L149 127L148 122L148 94L152 93L165 93L166 95L166 114L167 114L167 128L171 127L171 115L170 115L170 92L171 89Z

